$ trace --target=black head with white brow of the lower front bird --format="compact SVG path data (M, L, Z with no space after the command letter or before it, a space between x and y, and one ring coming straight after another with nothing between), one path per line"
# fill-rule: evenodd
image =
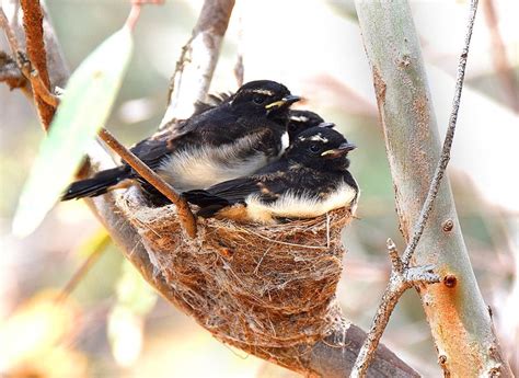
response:
M318 126L299 134L287 149L286 156L320 171L342 171L348 169L347 154L355 148L341 133Z

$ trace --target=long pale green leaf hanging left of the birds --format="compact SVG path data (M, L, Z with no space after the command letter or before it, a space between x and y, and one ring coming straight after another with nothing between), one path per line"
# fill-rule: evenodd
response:
M73 179L89 144L109 115L132 48L131 33L123 27L70 77L20 196L14 234L25 237L33 232Z

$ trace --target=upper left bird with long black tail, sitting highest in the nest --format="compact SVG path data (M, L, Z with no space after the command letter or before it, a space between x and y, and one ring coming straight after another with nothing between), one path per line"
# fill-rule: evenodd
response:
M251 81L181 122L173 135L145 139L131 152L178 192L209 187L279 159L288 147L289 107L299 100L281 83ZM162 205L158 191L126 163L72 183L61 201L97 196L136 181Z

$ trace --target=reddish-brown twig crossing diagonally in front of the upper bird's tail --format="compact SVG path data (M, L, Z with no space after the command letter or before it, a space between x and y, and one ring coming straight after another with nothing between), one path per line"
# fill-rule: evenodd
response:
M105 128L100 131L100 137L126 163L128 163L139 175L150 185L153 185L160 193L170 199L177 209L178 217L184 230L192 238L196 236L196 220L189 205L164 180L146 165L130 150L123 146L115 137Z

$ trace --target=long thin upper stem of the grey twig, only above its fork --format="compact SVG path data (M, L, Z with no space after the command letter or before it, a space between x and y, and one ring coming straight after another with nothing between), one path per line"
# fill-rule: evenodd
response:
M461 91L463 89L463 80L465 77L465 67L466 67L466 58L469 56L469 46L471 44L471 36L472 36L472 28L474 26L474 20L477 10L477 1L478 0L471 0L470 11L469 11L469 23L465 33L465 42L463 46L463 50L460 55L460 60L458 62L458 73L455 77L455 89L454 89L454 99L452 101L452 111L450 113L449 118L449 127L447 128L446 138L443 140L443 147L441 148L440 160L438 161L438 165L436 167L435 175L432 176L432 181L430 182L429 191L427 193L427 197L425 198L424 206L422 207L422 211L419 214L418 220L414 227L413 238L411 239L410 243L407 244L404 254L402 256L402 262L404 266L410 265L411 257L413 257L413 253L416 250L416 245L418 245L418 241L424 233L425 226L427 225L427 219L429 219L430 211L432 210L432 205L435 203L436 196L438 195L438 190L441 184L441 179L447 169L447 164L450 160L450 150L452 147L452 140L454 139L454 130L455 130L455 123L458 121L458 111L460 110L460 100L461 100Z

